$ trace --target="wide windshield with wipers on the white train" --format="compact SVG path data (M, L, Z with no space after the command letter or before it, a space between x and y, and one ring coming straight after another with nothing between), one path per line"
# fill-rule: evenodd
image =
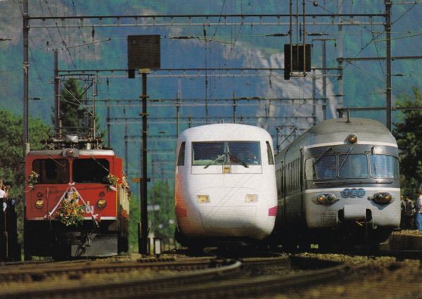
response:
M192 165L261 165L260 141L192 143Z

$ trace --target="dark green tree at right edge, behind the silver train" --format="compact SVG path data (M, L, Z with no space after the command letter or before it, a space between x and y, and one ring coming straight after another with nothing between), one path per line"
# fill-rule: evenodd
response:
M401 107L421 107L422 93L413 88L414 96L400 96ZM406 193L421 189L422 185L422 110L403 110L402 122L395 123L393 134L399 146L400 174Z

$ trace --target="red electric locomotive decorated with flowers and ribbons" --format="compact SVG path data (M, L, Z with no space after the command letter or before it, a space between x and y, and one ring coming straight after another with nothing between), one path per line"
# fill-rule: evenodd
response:
M129 184L122 159L94 130L61 127L30 151L25 175L25 259L128 250Z

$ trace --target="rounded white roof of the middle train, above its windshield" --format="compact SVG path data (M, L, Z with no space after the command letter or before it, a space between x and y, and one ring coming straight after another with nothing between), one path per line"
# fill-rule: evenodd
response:
M212 124L184 130L179 141L257 141L272 140L267 130L241 124Z

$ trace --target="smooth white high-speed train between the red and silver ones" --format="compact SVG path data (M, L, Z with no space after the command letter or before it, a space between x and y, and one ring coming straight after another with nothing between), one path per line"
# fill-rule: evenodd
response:
M238 124L186 129L177 140L175 237L188 247L255 243L274 228L271 135Z

